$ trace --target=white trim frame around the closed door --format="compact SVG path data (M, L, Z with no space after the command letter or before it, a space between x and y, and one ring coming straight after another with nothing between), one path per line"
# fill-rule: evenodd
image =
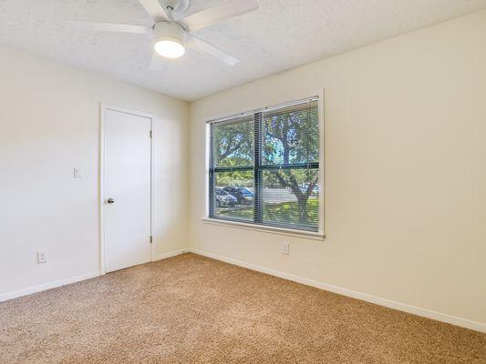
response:
M99 274L107 273L105 262L105 114L107 110L117 111L134 116L150 118L150 131L153 134L155 116L142 111L131 110L125 107L112 106L105 103L99 104L99 188L98 188L98 207L99 207ZM150 137L150 237L153 237L153 137ZM153 244L150 241L150 261L153 260Z

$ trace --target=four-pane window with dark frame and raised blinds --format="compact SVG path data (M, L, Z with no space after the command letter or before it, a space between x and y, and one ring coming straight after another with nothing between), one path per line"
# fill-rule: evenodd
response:
M209 123L209 217L317 231L318 98Z

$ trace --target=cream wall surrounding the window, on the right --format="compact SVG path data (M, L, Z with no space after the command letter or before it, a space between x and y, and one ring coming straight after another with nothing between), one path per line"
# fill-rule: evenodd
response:
M322 89L326 240L203 223L205 120ZM203 98L191 103L191 248L485 329L485 138L486 12Z

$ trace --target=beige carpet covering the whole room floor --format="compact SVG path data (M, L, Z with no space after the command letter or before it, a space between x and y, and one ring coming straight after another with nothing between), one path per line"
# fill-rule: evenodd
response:
M193 254L0 304L0 363L486 363L486 334Z

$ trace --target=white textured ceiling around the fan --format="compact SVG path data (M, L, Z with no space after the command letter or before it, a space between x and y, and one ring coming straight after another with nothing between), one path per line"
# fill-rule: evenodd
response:
M243 0L244 1L244 0ZM188 13L224 3L191 0ZM149 35L87 33L65 20L151 25L138 0L0 0L0 42L183 100L486 8L486 0L259 0L256 12L196 33L238 57L228 66L189 49L149 69Z

